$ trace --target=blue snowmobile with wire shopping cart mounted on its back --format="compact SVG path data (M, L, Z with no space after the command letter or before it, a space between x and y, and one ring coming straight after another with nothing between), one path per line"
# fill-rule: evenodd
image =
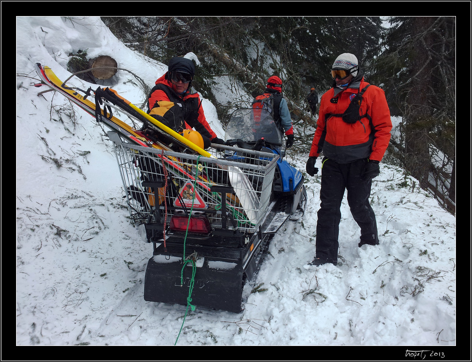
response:
M306 207L304 176L283 159L264 110L236 110L212 157L160 151L109 133L131 218L153 244L144 299L241 312L272 237Z

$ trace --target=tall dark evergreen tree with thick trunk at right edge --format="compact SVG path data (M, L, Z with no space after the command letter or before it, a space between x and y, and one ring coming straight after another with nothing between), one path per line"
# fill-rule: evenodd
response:
M392 115L403 117L400 159L423 189L439 193L442 187L449 189L449 198L455 202L455 178L451 179L455 161L455 18L393 17L390 21L386 50L374 72L385 80Z

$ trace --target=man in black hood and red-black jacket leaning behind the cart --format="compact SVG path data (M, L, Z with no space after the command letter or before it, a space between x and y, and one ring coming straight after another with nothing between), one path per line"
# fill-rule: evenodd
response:
M176 132L192 129L200 133L204 148L223 144L206 121L199 94L191 88L195 65L191 59L174 57L167 72L158 80L148 96L148 114Z

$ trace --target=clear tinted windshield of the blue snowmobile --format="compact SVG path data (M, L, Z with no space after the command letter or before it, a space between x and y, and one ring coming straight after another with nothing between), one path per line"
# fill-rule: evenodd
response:
M242 139L251 144L261 138L280 151L283 136L270 112L254 108L241 108L233 112L226 127L225 140Z

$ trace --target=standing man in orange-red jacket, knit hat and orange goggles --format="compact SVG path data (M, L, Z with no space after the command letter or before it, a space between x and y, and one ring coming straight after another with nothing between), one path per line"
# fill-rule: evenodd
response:
M380 173L379 162L392 129L385 94L364 81L355 55L338 56L331 76L333 87L321 97L306 167L311 176L318 173L315 162L323 153L316 257L311 265L337 264L340 207L345 190L352 217L361 228L359 247L379 244L369 197L372 178Z

